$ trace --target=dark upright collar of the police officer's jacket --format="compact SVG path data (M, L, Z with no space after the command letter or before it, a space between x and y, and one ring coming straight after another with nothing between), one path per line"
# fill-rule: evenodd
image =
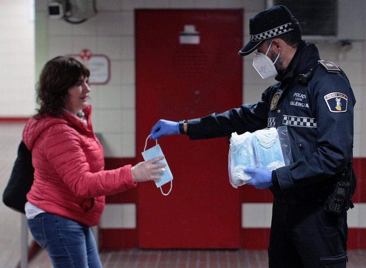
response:
M307 44L305 40L302 40L298 45L290 64L288 64L286 71L282 75L276 76L275 79L277 81L282 81L285 78L294 77L315 64L318 60L320 60L320 56L315 44Z

